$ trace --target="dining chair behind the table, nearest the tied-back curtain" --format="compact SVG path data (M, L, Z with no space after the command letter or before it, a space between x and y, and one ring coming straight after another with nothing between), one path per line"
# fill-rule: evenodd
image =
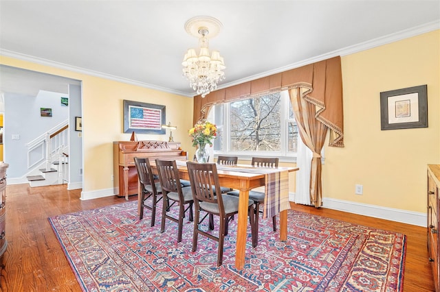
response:
M278 158L261 158L261 157L252 157L252 166L254 167L278 167ZM238 197L240 195L239 191L230 191L228 195L234 195ZM263 213L260 210L261 204L264 203L265 193L260 191L249 191L249 198L252 199L255 203L255 226L256 230L259 230L259 213ZM272 217L272 225L274 231L276 231L276 216ZM258 231L257 231L257 239L258 239Z

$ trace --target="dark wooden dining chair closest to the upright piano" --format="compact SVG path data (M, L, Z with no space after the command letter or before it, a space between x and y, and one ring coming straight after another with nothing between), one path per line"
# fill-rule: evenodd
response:
M155 181L151 172L151 165L148 158L135 157L135 166L137 170L137 178L141 184L140 214L139 219L144 218L144 208L151 210L151 226L155 224L156 205L162 199L162 188L160 182ZM146 200L151 197L151 206L146 204Z

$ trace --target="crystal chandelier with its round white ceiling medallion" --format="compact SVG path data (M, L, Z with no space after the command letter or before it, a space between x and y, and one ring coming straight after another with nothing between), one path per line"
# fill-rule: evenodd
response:
M182 70L192 89L201 97L216 90L217 83L225 79L223 57L219 51L209 53L209 39L217 36L222 26L220 21L210 16L197 16L185 23L186 32L199 38L199 54L195 49L188 49L181 63L184 66Z

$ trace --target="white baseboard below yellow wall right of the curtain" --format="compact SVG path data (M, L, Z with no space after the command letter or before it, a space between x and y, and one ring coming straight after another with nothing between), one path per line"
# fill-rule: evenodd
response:
M322 208L426 227L426 213L421 212L360 204L326 197L322 199Z

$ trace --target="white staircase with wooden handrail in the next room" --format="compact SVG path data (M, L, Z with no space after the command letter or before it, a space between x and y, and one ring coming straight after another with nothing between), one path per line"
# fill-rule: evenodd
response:
M31 187L65 184L69 178L68 124L61 124L28 143L28 175ZM51 134L52 132L52 134Z

